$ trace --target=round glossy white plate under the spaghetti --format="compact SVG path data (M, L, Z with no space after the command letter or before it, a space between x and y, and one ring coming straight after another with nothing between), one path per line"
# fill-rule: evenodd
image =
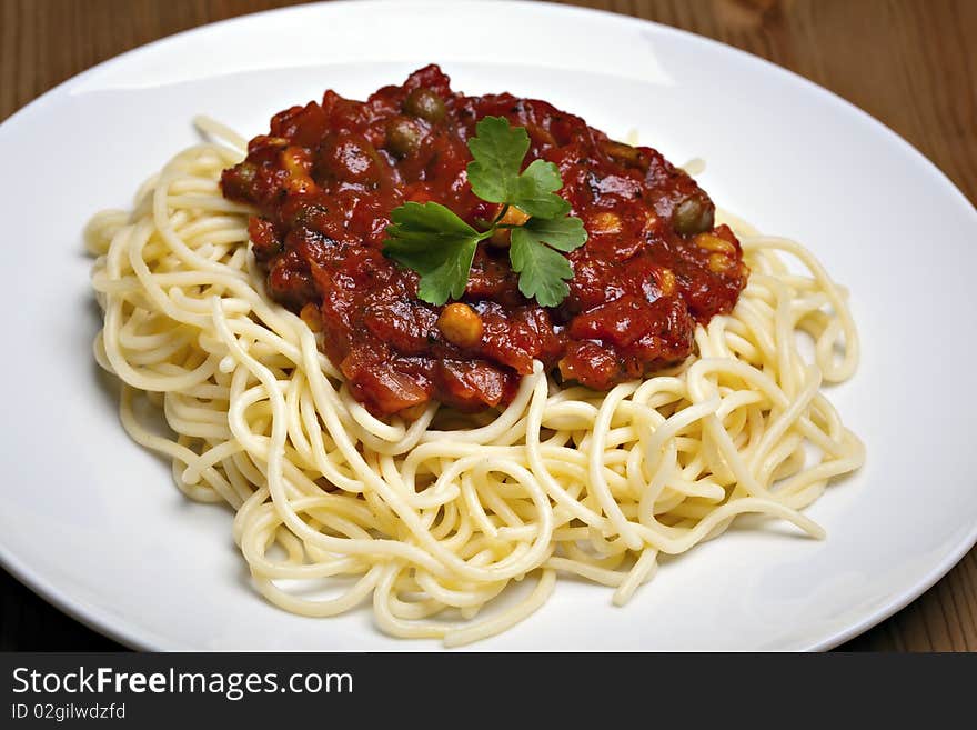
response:
M626 608L561 581L475 649L824 649L909 602L977 538L970 384L977 213L926 159L837 97L719 43L550 4L329 3L208 26L103 63L0 127L6 356L0 557L100 631L142 648L431 649L369 609L305 619L262 600L231 512L191 503L129 441L91 357L81 230L194 141L248 136L325 88L362 98L436 61L454 88L545 98L682 162L763 230L800 239L853 292L864 361L830 390L868 462L789 527L731 530Z

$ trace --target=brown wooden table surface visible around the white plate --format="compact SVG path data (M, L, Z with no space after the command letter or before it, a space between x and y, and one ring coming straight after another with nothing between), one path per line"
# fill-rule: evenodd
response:
M0 120L157 38L294 0L0 0ZM827 87L977 200L977 0L574 0L709 36ZM977 242L975 242L977 243ZM0 649L118 648L0 571ZM977 550L848 650L977 650Z

